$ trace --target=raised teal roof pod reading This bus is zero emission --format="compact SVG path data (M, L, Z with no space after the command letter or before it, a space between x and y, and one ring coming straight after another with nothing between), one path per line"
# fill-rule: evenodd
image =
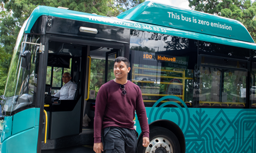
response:
M247 29L238 20L156 2L147 1L121 13L117 17L212 36L254 42Z

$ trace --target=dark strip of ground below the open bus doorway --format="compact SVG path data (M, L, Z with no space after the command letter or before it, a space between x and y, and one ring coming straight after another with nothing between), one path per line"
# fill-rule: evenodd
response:
M41 153L95 153L92 145L73 146L61 149L42 150Z

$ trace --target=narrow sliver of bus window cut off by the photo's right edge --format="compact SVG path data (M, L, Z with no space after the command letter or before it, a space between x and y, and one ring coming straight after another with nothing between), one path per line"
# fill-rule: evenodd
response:
M251 63L251 76L250 76L250 101L251 107L256 108L256 62Z

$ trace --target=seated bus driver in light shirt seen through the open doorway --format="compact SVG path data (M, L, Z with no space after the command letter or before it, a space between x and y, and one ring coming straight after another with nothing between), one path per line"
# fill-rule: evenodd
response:
M71 82L71 79L72 77L69 72L63 73L62 81L65 83L65 85L62 86L56 94L54 94L54 97L59 97L59 100L74 100L76 84Z

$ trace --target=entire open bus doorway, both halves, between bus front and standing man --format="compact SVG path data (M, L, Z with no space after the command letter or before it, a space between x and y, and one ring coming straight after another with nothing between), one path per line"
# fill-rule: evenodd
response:
M119 43L84 41L86 45L81 45L73 42L49 41L45 110L50 140L80 133L93 134L97 92L105 82L115 78L114 60L124 48ZM56 100L56 103L52 97L64 85L61 79L64 72L69 72L71 81L77 85L76 95L74 100ZM44 132L45 129L42 139Z

